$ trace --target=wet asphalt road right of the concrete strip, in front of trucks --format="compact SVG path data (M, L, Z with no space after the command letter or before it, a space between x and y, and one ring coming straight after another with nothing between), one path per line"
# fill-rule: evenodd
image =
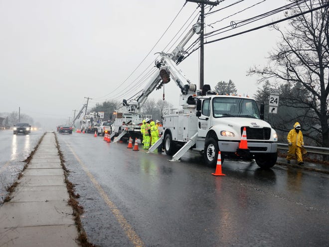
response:
M329 176L133 151L92 134L58 134L88 239L102 247L329 246ZM141 149L141 145L140 145Z

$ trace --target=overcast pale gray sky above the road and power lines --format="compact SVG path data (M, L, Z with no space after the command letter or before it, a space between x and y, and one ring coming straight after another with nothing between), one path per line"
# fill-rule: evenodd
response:
M212 11L237 1L225 0ZM32 118L67 120L73 116L72 110L79 110L86 102L84 97L93 98L90 107L104 100L129 98L147 83L136 87L134 80L154 63L157 57L154 54L165 48L189 16L197 15L196 3L187 2L182 8L184 3L184 0L0 0L0 112L18 111L20 107L21 113ZM259 4L214 23L255 3ZM287 3L241 1L208 15L205 32ZM181 8L164 37L128 78ZM283 12L214 38L282 17ZM195 35L192 39L196 38ZM240 94L252 96L257 78L246 77L246 72L253 65L265 65L265 57L278 40L279 34L267 27L206 45L205 84L213 88L218 81L231 79ZM180 63L179 68L192 83L199 84L198 52ZM129 95L124 94L127 87L134 89ZM113 92L114 89L117 91ZM162 90L154 92L150 98L162 99L162 94ZM174 106L178 106L178 95L174 84L165 87L165 99ZM54 123L57 124L61 123Z

